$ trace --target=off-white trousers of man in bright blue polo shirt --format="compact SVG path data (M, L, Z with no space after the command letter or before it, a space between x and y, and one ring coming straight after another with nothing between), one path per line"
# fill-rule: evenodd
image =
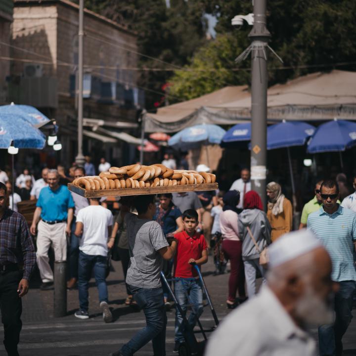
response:
M53 225L38 223L37 229L37 265L40 269L41 279L44 283L53 282L53 272L48 263L48 250L52 244L55 261L66 261L67 259L67 239L65 234L66 223L56 223Z

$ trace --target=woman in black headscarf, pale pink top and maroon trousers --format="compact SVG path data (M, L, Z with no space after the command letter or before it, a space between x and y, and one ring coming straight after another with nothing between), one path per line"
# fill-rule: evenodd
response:
M228 281L228 298L226 306L235 308L239 300L236 299L238 290L240 301L246 299L245 274L242 261L242 242L238 229L237 204L240 192L229 190L223 196L223 212L220 214L220 228L223 234L223 253L230 260L230 277Z

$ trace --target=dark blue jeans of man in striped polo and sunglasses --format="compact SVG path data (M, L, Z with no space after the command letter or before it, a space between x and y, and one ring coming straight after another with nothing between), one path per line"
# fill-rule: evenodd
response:
M339 284L340 289L335 293L334 301L335 322L334 324L321 325L318 330L320 356L342 354L342 337L352 319L351 311L356 282L342 281Z

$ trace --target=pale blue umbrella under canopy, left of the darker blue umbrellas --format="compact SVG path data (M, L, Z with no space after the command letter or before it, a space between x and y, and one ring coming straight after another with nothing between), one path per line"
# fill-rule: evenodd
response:
M199 147L201 144L219 144L224 134L225 130L217 125L196 125L183 129L173 135L168 140L168 145L177 149L186 150Z

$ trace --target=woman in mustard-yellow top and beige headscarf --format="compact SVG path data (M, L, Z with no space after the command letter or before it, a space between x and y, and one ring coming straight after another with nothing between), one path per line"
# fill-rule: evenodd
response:
M272 242L281 235L292 230L292 203L284 194L281 186L276 182L267 184L267 218L271 225Z

